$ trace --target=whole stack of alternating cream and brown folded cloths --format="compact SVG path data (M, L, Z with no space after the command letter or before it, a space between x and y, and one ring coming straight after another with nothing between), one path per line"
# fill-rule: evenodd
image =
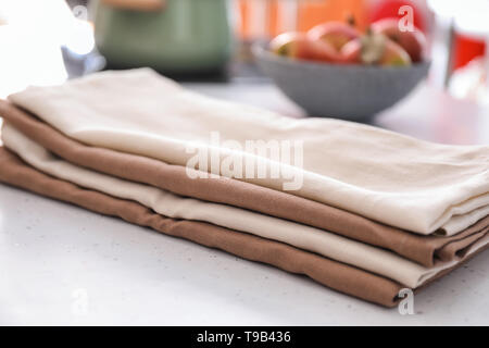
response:
M5 184L386 307L489 244L487 146L288 119L200 96L148 69L30 87L0 101L0 116ZM248 140L299 144L302 156L280 162L236 146ZM204 161L189 167L196 153ZM230 175L209 160L230 153L300 185Z

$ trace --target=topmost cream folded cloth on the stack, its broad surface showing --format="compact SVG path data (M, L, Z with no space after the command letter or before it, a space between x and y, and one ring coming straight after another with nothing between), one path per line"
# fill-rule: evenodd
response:
M489 206L487 146L444 146L343 121L288 119L200 96L147 69L33 87L9 99L88 145L179 165L195 156L186 151L189 144L210 147L212 132L241 145L303 140L303 165L287 166L303 177L291 194L419 234L455 234ZM217 150L222 159L231 151ZM239 179L274 189L288 182Z

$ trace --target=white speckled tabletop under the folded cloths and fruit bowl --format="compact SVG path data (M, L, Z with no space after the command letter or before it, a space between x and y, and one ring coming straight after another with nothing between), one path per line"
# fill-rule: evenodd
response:
M291 116L268 85L191 84ZM489 109L422 86L377 125L448 144L489 144ZM0 324L489 324L489 252L401 315L306 277L0 185Z

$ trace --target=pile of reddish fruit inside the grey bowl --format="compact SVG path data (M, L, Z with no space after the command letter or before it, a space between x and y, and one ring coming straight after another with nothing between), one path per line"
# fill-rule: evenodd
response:
M329 22L304 33L285 33L269 44L278 55L333 64L410 66L424 60L426 39L414 27L402 32L398 20L375 22L360 33L354 23Z

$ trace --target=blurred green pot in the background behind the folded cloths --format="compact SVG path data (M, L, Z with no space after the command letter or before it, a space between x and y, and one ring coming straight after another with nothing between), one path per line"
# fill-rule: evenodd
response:
M113 67L223 71L231 54L227 0L96 0L97 49Z

